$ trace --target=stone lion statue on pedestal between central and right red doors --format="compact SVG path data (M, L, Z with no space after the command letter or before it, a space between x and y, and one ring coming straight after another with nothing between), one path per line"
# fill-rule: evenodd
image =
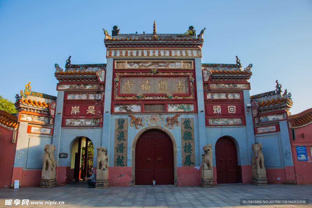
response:
M213 187L212 144L206 144L202 149L205 154L202 154L202 179L200 185L209 188Z

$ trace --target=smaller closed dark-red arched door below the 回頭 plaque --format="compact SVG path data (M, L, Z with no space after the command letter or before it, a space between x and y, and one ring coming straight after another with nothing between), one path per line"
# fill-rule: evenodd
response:
M216 142L217 183L238 183L237 151L234 141L220 137Z

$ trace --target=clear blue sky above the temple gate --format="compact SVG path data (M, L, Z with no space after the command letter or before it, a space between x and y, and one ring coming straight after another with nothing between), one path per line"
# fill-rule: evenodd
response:
M202 63L252 63L250 95L291 92L290 112L312 107L312 1L0 0L0 95L25 89L57 95L54 64L106 63L102 28L183 33L206 27ZM111 33L111 32L110 32Z

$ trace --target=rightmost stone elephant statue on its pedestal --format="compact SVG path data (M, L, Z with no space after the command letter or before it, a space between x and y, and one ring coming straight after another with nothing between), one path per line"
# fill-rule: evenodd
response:
M268 185L266 181L266 168L264 167L264 158L263 153L261 151L262 144L261 143L254 143L251 145L254 154L251 158L251 183L263 186Z

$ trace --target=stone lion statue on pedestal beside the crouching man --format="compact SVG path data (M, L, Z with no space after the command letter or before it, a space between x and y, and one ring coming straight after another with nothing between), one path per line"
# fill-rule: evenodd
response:
M95 188L107 188L108 183L108 155L105 147L97 147Z

